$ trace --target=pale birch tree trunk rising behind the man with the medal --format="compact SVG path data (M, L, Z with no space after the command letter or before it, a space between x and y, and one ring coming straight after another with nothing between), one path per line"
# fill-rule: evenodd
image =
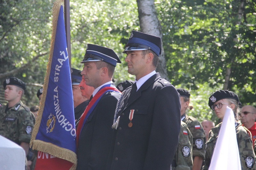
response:
M141 32L159 36L162 39L162 30L157 18L154 0L137 0ZM163 43L162 43L163 44ZM159 56L156 71L162 78L169 80L166 69L165 53L162 45L162 53Z

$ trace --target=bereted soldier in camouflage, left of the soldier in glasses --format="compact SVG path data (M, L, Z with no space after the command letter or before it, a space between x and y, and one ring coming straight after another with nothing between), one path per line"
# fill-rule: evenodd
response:
M193 170L200 170L205 156L205 133L202 124L194 117L188 116L186 109L189 106L190 93L185 89L177 89L181 96L181 120L187 124L193 136Z

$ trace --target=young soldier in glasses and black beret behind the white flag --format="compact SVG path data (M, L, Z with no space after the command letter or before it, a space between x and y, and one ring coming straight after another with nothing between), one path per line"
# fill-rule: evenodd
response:
M237 119L238 113L241 111L239 108L239 98L237 94L228 90L218 90L210 96L208 104L210 108L214 110L217 117L222 121L224 119L227 106L233 110L241 168L242 170L255 169L255 154L253 151L251 133L243 127L241 122ZM211 157L213 155L221 126L222 123L217 124L209 133L209 139L205 149L205 165L203 170L207 170L211 164Z

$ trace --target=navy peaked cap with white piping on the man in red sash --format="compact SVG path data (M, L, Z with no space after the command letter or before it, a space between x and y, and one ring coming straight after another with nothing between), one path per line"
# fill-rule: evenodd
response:
M84 59L81 63L87 61L104 61L114 66L116 66L116 63L121 63L120 59L112 49L94 44L87 44Z

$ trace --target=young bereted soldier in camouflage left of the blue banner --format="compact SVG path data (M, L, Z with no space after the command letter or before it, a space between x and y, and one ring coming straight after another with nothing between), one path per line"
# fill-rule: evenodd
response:
M26 84L16 77L9 77L3 82L3 87L8 104L0 108L0 135L20 145L27 155L35 118L20 101Z

